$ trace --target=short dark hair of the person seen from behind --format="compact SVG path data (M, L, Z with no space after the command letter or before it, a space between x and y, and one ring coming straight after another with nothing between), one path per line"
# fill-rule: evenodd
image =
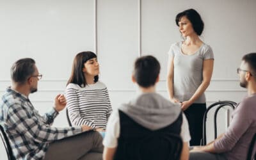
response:
M133 76L139 86L154 86L159 72L160 63L154 56L142 56L134 63Z

